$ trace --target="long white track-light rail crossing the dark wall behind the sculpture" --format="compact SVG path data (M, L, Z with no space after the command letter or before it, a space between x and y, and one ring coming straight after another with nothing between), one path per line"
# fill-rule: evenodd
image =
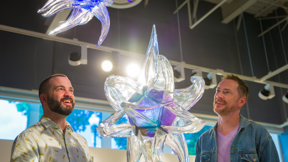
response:
M288 17L287 17L288 18ZM57 37L57 36L49 36L46 35L44 33L39 33L39 32L35 32L35 31L29 31L29 30L25 30L25 29L19 29L19 28L15 28L15 27L9 27L6 25L0 25L0 30L3 31L9 31L12 33L19 33L19 34L23 34L23 35L29 35L32 37L38 37L38 38L43 38L43 39L48 39L48 40L52 40L52 41L56 41L56 42L62 42L62 43L66 43L66 44L72 44L72 45L76 45L76 46L81 46L86 44L87 48L92 48L92 49L96 49L96 50L102 50L102 51L107 51L107 52L119 52L122 55L126 55L126 56L137 56L137 57L143 57L143 54L138 54L135 52L129 52L129 51L125 51L125 50L120 50L117 48L111 48L111 47L106 47L106 46L99 46L98 48L96 47L96 44L91 44L91 43L87 43L87 42L81 42L78 40L73 40L73 39L68 39L68 38L62 38L62 37ZM178 62L178 61L173 61L173 60L169 60L169 62L171 63L171 65L183 65L185 68L187 69L200 69L204 72L215 72L217 75L225 75L225 74L229 74L230 72L226 72L223 71L221 69L210 69L210 68L206 68L206 67L201 67L201 66L196 66L196 65L191 65L191 64L187 64L185 62ZM284 71L285 69L288 69L288 65L285 65L283 67L280 67L279 69L270 72L269 74L267 74L266 76L258 79L256 77L249 77L249 76L244 76L244 75L239 75L239 74L234 74L237 75L240 79L242 80L247 80L250 82L256 82L256 83L260 83L260 84L273 84L273 86L276 87L281 87L281 88L288 88L288 84L284 84L284 83L279 83L279 82L272 82L272 81L267 81L266 79L271 78L272 76L275 76L277 74L279 74L280 72ZM232 73L233 74L233 73Z

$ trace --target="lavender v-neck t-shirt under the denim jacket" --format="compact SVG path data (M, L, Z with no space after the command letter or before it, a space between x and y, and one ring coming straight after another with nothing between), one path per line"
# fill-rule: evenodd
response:
M228 135L222 135L217 129L217 162L230 161L231 144L239 127L240 123Z

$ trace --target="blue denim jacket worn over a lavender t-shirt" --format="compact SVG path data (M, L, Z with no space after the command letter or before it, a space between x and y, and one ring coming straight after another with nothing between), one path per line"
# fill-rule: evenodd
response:
M230 161L278 162L278 152L268 131L262 125L251 122L240 114L239 116L240 127L231 145ZM218 122L199 137L195 162L216 162L217 124Z

